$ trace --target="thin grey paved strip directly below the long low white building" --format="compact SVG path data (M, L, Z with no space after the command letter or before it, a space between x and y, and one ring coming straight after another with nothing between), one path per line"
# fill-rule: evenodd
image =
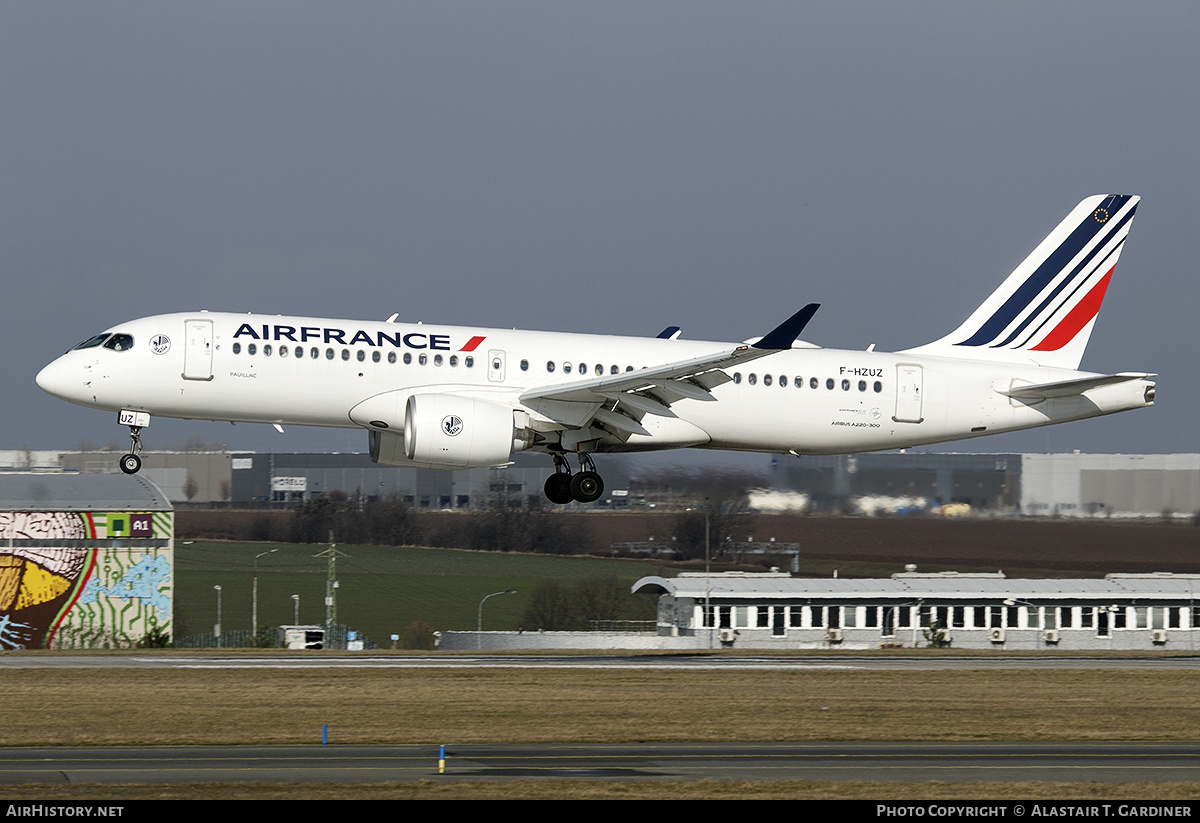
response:
M630 669L1200 669L1200 655L708 656L708 655L0 655L4 668L630 668Z

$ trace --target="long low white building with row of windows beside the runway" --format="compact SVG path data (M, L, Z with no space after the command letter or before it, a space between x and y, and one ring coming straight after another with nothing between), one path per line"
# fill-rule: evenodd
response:
M644 577L634 591L660 593L658 633L685 648L1200 649L1200 575L689 572Z

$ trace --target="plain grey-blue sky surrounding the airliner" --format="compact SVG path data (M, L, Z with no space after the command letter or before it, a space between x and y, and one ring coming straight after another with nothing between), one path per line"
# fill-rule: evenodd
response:
M0 447L124 444L34 376L160 312L733 341L818 301L806 340L917 346L1115 192L1084 367L1157 407L942 450L1200 450L1198 43L1187 2L5 2ZM190 437L366 447L145 444Z

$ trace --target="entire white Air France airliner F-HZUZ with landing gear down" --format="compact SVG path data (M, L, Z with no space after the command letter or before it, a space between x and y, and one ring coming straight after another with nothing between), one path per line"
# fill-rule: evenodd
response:
M848 453L1033 428L1153 404L1153 374L1076 371L1138 199L1087 198L962 325L894 354L797 340L815 304L740 344L192 312L89 337L37 384L115 410L128 474L152 415L361 427L383 465L546 453L554 503L598 499L605 452Z

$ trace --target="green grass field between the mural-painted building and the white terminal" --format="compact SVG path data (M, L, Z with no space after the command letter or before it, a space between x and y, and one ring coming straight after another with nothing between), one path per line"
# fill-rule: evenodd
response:
M325 621L324 546L196 541L175 547L175 624L179 636L209 632L221 585L224 631L248 630L254 555L258 559L259 625L293 621L292 595L300 595L300 621ZM516 595L487 601L485 629L515 630L534 585L616 577L631 585L646 575L671 573L636 560L468 552L455 548L338 546L337 620L386 648L388 637L422 620L438 631L474 630L479 601L493 591ZM631 599L630 619L654 619L654 596Z

